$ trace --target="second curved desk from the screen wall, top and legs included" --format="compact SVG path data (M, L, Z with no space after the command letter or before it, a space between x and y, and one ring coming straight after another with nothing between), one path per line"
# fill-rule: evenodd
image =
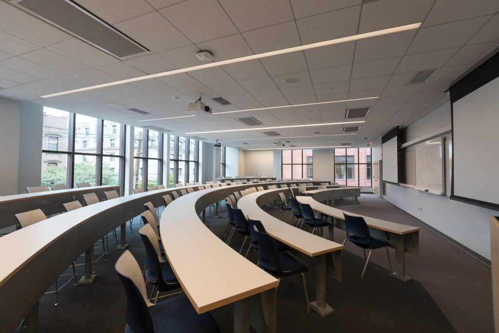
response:
M330 315L333 309L326 303L326 273L341 281L341 249L343 245L312 235L283 222L260 207L277 200L279 192L287 189L272 189L247 194L238 201L238 208L252 220L259 220L273 238L289 245L304 259L313 258L315 264L315 301L310 307L321 316ZM303 255L300 255L303 254Z

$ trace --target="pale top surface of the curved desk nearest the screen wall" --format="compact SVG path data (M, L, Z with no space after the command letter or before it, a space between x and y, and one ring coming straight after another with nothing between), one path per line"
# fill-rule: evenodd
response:
M312 197L301 196L301 197L296 197L296 200L298 200L299 203L309 204L310 207L312 207L312 209L314 211L317 211L317 212L322 213L324 215L332 216L332 217L335 217L335 218L338 218L341 220L345 219L345 217L343 216L343 212L345 212L347 215L362 216L369 227L376 228L379 230L388 231L388 232L391 232L394 234L404 235L404 234L409 234L409 233L412 233L415 231L419 231L419 229L420 229L420 228L411 227L411 226L408 226L405 224L379 220L379 219L375 219L375 218L372 218L369 216L364 216L364 215L359 215L359 214L354 214L354 213L350 213L347 211L343 211L343 210L338 209L338 208L334 208L334 207L330 207L330 206L321 204L320 202L315 201Z

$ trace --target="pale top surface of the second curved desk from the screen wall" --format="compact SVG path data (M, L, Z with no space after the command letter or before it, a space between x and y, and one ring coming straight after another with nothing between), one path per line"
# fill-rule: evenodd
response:
M245 216L248 215L251 220L261 221L266 232L273 238L308 256L314 257L343 248L341 244L300 230L269 215L258 207L256 203L257 197L272 192L282 192L283 190L285 189L265 190L247 194L238 201L238 208L243 211Z

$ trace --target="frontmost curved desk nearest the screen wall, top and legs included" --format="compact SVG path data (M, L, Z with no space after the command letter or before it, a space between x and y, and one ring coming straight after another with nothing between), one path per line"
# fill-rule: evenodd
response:
M369 227L369 232L374 238L385 241L390 247L395 249L395 272L391 276L404 282L410 281L411 277L405 274L405 253L419 255L419 230L420 228L407 226L384 220L375 219L369 216L353 214L341 209L330 207L318 202L315 197L296 197L299 203L309 204L314 211L332 218L331 227L329 227L329 237L333 239L333 227L346 230L345 217L343 212L348 215L362 216Z

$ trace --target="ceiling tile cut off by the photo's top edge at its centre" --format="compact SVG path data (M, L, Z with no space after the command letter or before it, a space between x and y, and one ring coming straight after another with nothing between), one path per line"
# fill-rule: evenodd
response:
M240 31L292 20L289 0L219 0Z

